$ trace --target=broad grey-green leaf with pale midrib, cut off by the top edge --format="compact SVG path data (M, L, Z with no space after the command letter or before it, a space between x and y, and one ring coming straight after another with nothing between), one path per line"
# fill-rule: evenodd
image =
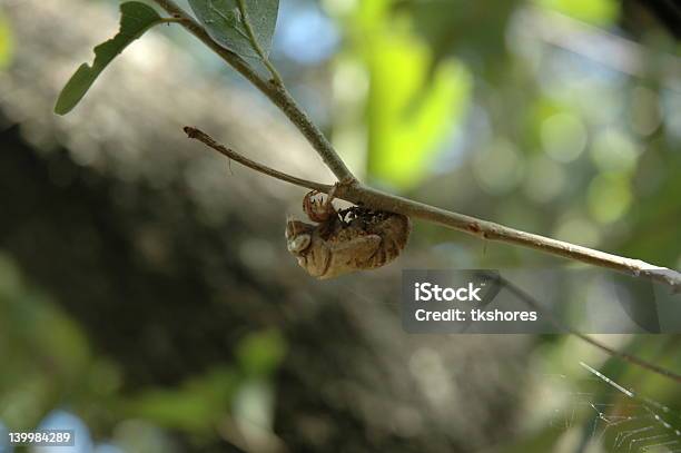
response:
M241 57L269 55L279 0L189 0L208 35ZM251 39L251 37L255 39Z

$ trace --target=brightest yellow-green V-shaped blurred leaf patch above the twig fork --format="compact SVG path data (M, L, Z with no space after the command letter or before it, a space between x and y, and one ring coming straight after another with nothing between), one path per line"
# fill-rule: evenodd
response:
M428 80L428 49L408 35L388 31L365 47L369 175L391 185L414 187L427 175L437 146L461 117L470 76L448 61Z

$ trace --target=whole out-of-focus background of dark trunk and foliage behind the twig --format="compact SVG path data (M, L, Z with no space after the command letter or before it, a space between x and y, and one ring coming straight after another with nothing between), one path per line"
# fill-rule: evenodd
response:
M304 191L181 127L332 176L181 29L55 116L117 8L0 0L0 426L75 429L32 450L62 453L681 451L654 418L681 429L681 388L578 338L402 329L402 268L563 260L416 223L391 266L309 278ZM680 33L671 0L282 0L273 60L369 183L679 268ZM678 336L600 339L681 372Z

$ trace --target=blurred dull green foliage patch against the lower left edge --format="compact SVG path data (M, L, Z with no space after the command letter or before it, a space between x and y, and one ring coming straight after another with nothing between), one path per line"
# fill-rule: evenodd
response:
M60 398L89 400L91 393L110 388L95 387L107 382L99 381L107 365L92 361L80 328L31 287L4 255L0 255L0 357L4 362L0 420L16 429L34 426ZM116 385L115 376L108 381Z

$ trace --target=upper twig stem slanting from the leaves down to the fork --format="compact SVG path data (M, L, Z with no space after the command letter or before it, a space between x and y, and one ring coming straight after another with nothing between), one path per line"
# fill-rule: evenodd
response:
M326 164L338 180L346 183L356 180L355 176L347 168L343 159L340 159L332 144L303 109L298 107L283 85L272 83L269 80L264 79L241 57L214 41L208 32L185 10L178 7L174 0L154 1L170 16L182 19L180 22L182 27L267 96L269 100L288 117L290 122L298 128L303 136L305 136L307 141L315 148L317 154L322 157L322 160L324 160L324 164Z

